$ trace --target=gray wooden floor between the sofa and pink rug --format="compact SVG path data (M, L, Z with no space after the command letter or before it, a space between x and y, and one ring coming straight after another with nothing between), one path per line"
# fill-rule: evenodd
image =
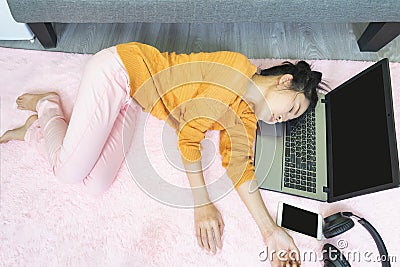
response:
M177 53L237 51L249 58L341 59L400 62L400 38L379 52L360 52L357 39L365 24L54 24L57 48L49 51L96 53L137 41ZM0 41L2 47L44 50L38 41Z

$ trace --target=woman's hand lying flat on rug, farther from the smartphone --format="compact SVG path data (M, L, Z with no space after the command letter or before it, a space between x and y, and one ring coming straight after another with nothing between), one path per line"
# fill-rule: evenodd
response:
M222 249L222 233L224 231L224 221L221 213L213 203L194 208L194 226L199 246L207 251L217 252L216 245Z

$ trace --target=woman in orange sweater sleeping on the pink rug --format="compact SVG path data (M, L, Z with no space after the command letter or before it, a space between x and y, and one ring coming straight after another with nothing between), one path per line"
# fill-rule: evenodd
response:
M224 222L205 187L200 141L207 130L220 130L222 164L268 250L299 255L292 237L274 223L261 198L252 145L258 120L284 122L313 108L321 76L304 61L284 62L257 74L240 53L186 55L160 53L141 43L120 44L98 52L87 63L69 124L56 92L25 93L16 100L18 109L37 115L7 131L0 143L26 140L27 129L37 124L54 175L64 183L81 183L88 193L101 194L124 160L122 132L124 127L134 129L134 115L126 112L133 101L177 131L193 192L198 244L215 253L216 247L222 248ZM286 257L270 261L274 266L300 264Z

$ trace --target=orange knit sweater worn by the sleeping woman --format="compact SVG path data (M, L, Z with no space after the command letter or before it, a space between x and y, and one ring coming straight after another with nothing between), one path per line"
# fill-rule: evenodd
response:
M128 72L131 97L178 135L184 161L201 159L207 130L220 130L222 165L235 189L255 180L257 118L241 96L257 68L236 52L161 53L141 43L116 46Z

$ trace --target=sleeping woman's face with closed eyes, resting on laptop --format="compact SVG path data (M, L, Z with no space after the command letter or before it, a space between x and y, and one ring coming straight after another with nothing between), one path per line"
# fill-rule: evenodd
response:
M265 95L266 107L263 109L261 120L268 124L295 119L303 114L310 101L303 93L293 90L271 90Z

